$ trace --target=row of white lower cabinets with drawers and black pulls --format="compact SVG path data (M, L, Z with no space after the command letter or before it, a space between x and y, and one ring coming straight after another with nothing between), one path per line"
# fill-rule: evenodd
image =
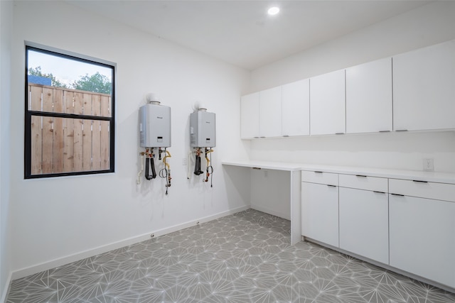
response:
M302 236L455 289L454 181L308 170L301 181Z

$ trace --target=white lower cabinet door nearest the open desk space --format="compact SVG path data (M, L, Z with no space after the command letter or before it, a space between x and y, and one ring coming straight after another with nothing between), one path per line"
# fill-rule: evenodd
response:
M302 182L302 235L338 247L338 187Z

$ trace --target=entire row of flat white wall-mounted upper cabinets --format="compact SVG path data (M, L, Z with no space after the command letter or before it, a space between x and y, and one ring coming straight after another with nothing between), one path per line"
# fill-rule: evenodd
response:
M242 97L241 137L455 128L455 40Z

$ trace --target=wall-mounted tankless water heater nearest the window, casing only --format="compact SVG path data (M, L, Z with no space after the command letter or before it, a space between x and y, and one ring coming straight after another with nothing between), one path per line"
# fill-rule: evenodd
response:
M171 107L151 102L139 109L141 148L171 146Z

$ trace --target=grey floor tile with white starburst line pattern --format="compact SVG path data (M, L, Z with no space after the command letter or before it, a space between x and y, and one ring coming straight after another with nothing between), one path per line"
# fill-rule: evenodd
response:
M289 230L249 209L14 280L6 302L455 302Z

